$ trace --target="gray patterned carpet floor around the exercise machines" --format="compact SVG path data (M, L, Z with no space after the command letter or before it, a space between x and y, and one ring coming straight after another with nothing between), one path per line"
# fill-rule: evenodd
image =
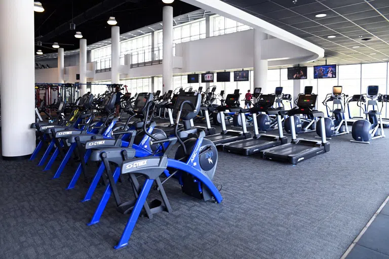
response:
M113 198L100 223L86 225L103 188L81 203L86 184L65 190L74 168L51 180L37 161L0 160L0 258L339 258L389 193L389 138L351 138L297 166L219 151L222 203L185 196L171 179L173 212L140 218L120 250L112 246L129 216ZM119 192L132 198L128 183Z

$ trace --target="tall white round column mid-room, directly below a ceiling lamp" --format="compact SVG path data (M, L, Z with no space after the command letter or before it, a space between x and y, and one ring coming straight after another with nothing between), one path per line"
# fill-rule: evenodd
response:
M163 89L162 92L173 90L173 7L164 6L162 14L163 37Z

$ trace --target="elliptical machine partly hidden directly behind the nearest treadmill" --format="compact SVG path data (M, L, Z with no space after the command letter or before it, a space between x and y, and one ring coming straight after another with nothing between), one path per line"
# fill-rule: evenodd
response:
M299 94L297 98L294 100L294 104L297 105L298 98L300 95L315 95L312 93L314 87L306 86L304 87L304 93ZM316 107L316 104L315 104ZM314 107L314 109L315 109ZM296 134L303 134L308 132L316 131L317 118L312 117L309 114L301 114L300 116L294 116L294 128ZM285 131L287 134L291 134L291 123L290 118L287 117L284 122Z

